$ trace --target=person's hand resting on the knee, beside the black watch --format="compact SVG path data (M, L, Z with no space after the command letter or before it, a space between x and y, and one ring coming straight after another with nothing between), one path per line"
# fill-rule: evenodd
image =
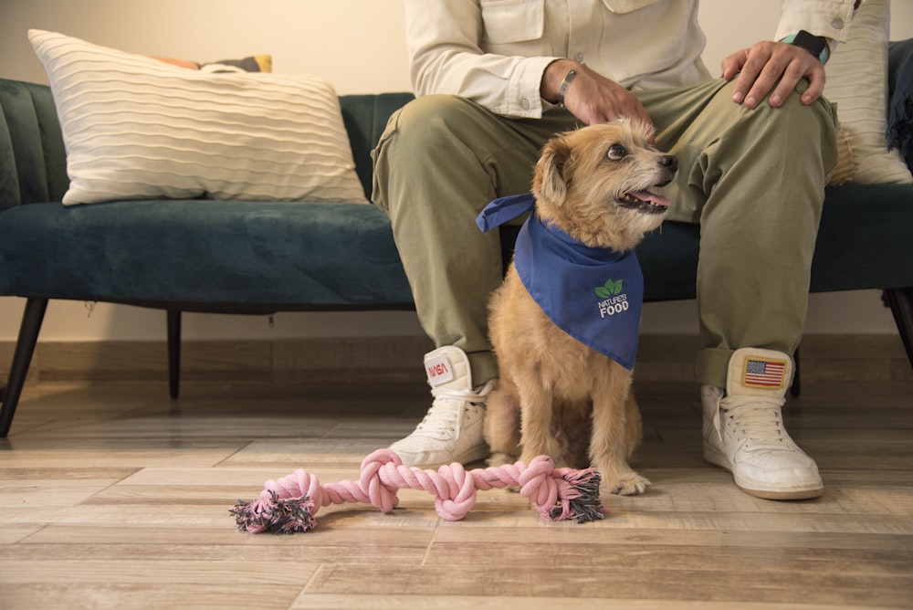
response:
M785 42L756 43L723 59L720 66L724 79L738 75L732 100L749 108L757 107L771 89L769 103L779 108L803 78L809 81L808 89L802 94L803 104L813 103L824 91L824 66L818 58L802 47Z

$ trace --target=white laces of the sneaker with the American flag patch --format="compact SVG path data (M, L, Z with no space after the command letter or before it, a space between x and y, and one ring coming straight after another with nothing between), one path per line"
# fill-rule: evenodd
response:
M782 399L774 396L729 396L718 403L725 417L753 448L781 449L794 445L782 423ZM715 418L716 419L716 418ZM719 430L720 439L722 431Z

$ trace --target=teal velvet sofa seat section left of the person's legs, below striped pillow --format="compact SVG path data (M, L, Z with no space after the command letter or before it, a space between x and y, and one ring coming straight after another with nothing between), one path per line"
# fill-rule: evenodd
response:
M394 309L412 293L373 205L152 200L0 213L0 294L184 310Z

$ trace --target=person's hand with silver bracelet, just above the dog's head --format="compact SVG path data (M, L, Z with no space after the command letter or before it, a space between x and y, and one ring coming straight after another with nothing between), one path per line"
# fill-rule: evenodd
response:
M542 77L541 94L545 100L557 100L561 81L571 69L577 78L564 93L564 107L587 125L617 121L622 118L639 119L653 124L650 115L634 93L624 89L614 80L606 79L590 68L561 59L552 62Z

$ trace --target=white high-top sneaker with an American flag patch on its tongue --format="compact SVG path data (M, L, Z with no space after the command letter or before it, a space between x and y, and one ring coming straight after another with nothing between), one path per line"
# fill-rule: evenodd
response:
M704 459L736 485L767 500L804 500L824 492L818 467L783 426L792 361L782 352L742 348L729 360L726 392L701 386Z

